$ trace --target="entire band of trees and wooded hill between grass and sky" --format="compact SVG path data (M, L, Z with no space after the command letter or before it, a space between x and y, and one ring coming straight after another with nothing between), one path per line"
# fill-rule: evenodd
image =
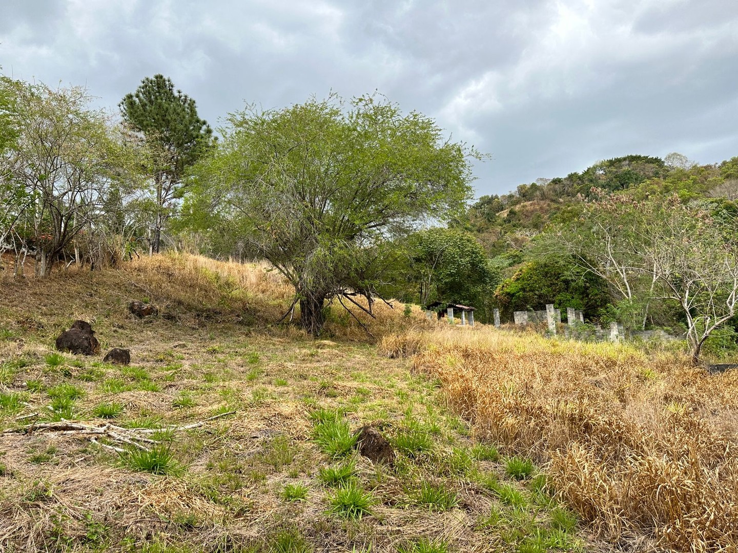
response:
M372 314L396 297L474 305L481 321L553 302L678 330L695 360L735 344L738 157L607 159L470 205L483 156L378 94L246 106L217 138L162 75L119 108L0 77L5 271L189 248L269 260L315 334L327 302Z

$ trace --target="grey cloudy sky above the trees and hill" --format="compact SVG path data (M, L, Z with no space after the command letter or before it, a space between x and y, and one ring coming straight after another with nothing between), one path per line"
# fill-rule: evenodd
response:
M211 124L378 89L492 156L477 195L628 153L738 156L738 0L0 0L4 74Z

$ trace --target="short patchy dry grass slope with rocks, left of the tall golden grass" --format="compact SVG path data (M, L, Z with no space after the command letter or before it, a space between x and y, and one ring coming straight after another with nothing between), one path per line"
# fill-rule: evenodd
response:
M335 303L320 338L275 324L292 291L263 265L156 256L120 271L4 285L1 430L61 416L49 411L58 386L81 392L63 417L90 425L111 420L97 408L112 403L120 410L114 422L136 427L235 414L162 438L181 467L167 474L137 472L127 453L119 458L80 435L0 434L1 550L393 553L430 540L484 552L542 539L584 550L576 527L562 534L551 524L551 498L533 479L511 481L503 459L470 456L478 444L466 424L441 406L435 382L412 375L402 358L415 347L379 355ZM126 308L131 299L149 299L168 316L136 319ZM359 317L380 340L411 330L418 345L421 330L438 325L402 307L377 305L376 320ZM103 364L101 355L49 361L56 335L77 318L92 321L103 353L130 348L132 366ZM7 406L9 397L22 403ZM311 414L320 409L351 430L374 423L390 438L427 437L430 446L399 453L392 466L355 451L331 459L311 439ZM320 470L342 462L355 463L355 481L375 501L361 520L329 510L335 490ZM443 511L418 504L427 482L443 484L455 504ZM498 483L524 504L505 503ZM303 485L305 501L286 501L287 484ZM289 535L292 544L280 545ZM549 549L556 548L528 551Z

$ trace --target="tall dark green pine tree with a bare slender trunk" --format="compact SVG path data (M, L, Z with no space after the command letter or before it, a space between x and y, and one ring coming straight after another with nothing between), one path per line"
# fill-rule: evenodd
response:
M197 114L195 100L174 89L168 77L145 77L132 94L120 102L120 112L137 131L148 150L153 215L151 251L158 252L162 229L182 197L182 181L191 167L213 144L213 129ZM142 204L145 205L145 204Z

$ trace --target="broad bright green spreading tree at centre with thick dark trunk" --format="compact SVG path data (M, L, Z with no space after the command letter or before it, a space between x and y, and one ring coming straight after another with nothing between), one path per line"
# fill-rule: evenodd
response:
M199 167L193 220L249 240L294 285L300 321L320 333L326 299L371 299L389 241L463 209L474 151L427 116L333 95L232 114Z

